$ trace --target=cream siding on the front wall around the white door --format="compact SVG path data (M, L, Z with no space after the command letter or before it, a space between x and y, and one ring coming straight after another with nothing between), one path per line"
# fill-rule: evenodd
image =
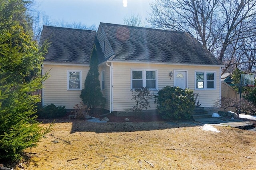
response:
M134 105L130 92L130 70L131 69L153 69L158 70L158 90L165 86L174 85L174 76L170 78L169 73L174 70L187 71L188 88L194 93L200 94L200 104L203 107L212 107L220 98L220 68L215 66L182 66L164 64L141 64L141 63L112 63L113 66L113 111L129 110ZM199 69L200 68L200 69ZM216 72L215 90L195 90L195 71ZM153 91L157 94L157 90ZM156 109L154 100L150 101L150 109Z

